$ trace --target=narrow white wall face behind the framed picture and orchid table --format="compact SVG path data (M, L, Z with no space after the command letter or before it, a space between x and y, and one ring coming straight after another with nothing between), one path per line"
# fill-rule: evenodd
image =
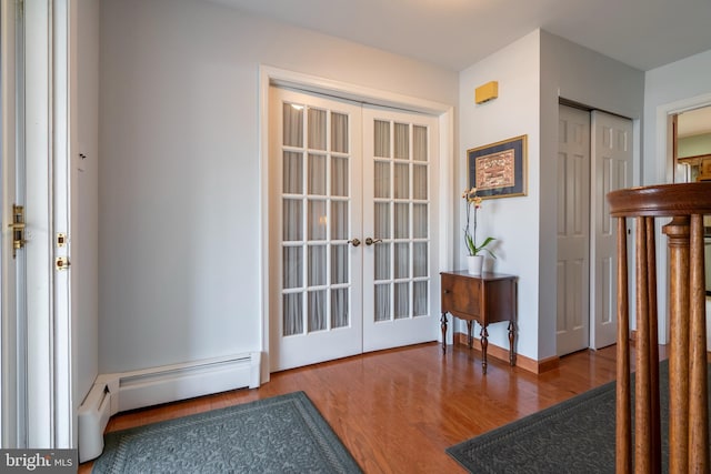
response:
M534 31L460 73L459 159L455 163L459 220L464 226L467 150L528 134L528 195L483 201L479 213L479 239L494 236L497 260L488 265L500 273L519 276L517 352L538 360L539 299L539 71L540 36ZM477 105L474 89L499 81L499 98ZM455 258L463 269L465 249L462 232L455 232ZM488 327L489 341L508 347L505 324Z

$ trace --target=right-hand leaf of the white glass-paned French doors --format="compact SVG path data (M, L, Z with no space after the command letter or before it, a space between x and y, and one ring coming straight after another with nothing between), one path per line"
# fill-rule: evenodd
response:
M437 119L368 107L363 137L363 350L435 340Z

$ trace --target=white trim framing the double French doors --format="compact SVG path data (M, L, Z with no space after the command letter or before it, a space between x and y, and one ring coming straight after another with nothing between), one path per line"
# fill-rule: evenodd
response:
M309 92L334 95L359 102L369 102L377 105L405 109L413 112L423 112L439 117L440 125L440 265L445 268L452 264L453 255L451 249L450 226L452 225L452 196L447 194L451 189L453 150L454 150L454 108L452 105L434 102L410 95L387 92L379 89L367 88L358 84L334 81L316 75L303 74L274 68L271 65L260 65L259 68L259 134L260 134L260 214L269 215L269 85L277 84L293 87ZM269 221L262 219L259 238L260 253L260 284L261 300L261 341L262 356L269 357ZM438 269L438 273L439 273ZM439 279L432 286L432 292L439 292ZM269 381L269 361L262 364L262 383Z

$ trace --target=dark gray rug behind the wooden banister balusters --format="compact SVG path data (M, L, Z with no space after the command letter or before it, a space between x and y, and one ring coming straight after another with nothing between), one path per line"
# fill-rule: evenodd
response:
M667 472L667 361L660 364L659 381L662 470ZM615 383L610 382L451 446L447 453L472 473L614 473L614 413Z

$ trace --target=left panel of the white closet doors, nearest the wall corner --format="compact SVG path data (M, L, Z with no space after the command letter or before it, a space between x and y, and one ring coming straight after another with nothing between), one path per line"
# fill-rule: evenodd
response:
M560 105L558 137L558 355L590 337L590 113Z

